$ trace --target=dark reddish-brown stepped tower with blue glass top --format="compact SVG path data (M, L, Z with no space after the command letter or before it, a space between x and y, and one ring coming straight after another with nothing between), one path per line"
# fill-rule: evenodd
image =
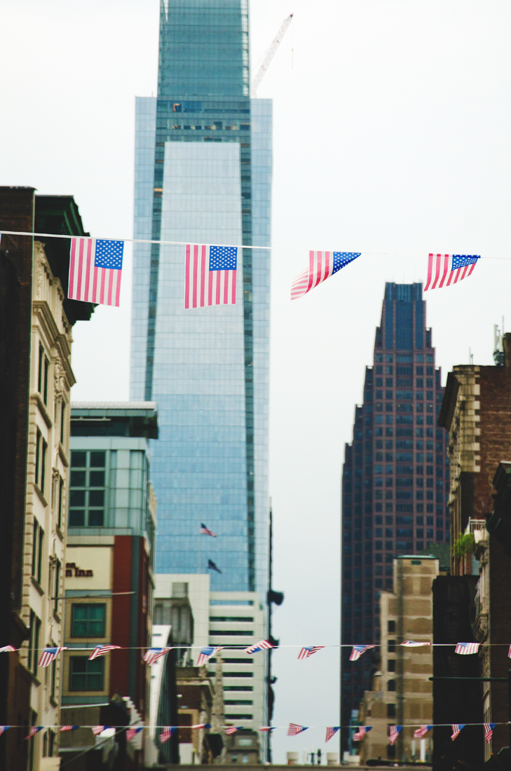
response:
M422 284L385 284L342 473L341 726L371 688L376 657L368 651L350 662L349 645L378 643L379 597L392 591L394 557L449 542L442 392Z

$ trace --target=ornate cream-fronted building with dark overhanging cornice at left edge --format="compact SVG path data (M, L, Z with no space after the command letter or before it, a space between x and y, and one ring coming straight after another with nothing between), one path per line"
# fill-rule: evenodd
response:
M0 187L0 228L84 235L71 196ZM20 726L0 741L0 767L58 763L62 662L39 667L62 645L62 588L69 474L72 326L89 303L66 298L68 239L2 234L0 244L0 722ZM28 726L45 726L25 742Z

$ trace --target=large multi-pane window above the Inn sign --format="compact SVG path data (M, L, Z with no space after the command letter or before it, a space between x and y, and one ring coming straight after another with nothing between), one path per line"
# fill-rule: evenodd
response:
M105 523L106 453L71 453L69 527L103 527Z

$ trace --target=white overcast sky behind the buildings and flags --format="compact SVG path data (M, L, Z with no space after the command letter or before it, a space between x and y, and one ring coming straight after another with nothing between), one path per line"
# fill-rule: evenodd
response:
M3 0L0 183L73 194L86 229L133 233L134 98L156 94L158 0ZM339 481L385 281L425 278L429 251L482 254L428 298L443 376L492 363L509 318L508 2L252 0L252 61L294 12L258 96L274 99L271 495L283 645L338 642ZM291 54L291 46L294 51ZM291 248L292 247L292 248ZM309 248L373 251L291 305ZM383 252L402 252L402 258ZM486 258L492 258L487 259ZM131 264L128 250L126 268ZM127 399L123 307L76 325L74 399ZM430 294L430 293L428 293ZM335 751L338 649L274 655L274 761Z

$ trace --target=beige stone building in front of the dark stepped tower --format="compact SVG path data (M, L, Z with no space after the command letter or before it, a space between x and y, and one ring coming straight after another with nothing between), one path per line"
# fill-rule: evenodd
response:
M432 647L408 648L402 643L432 643L432 583L438 575L435 557L394 560L395 591L382 592L381 597L380 669L358 712L358 722L372 726L360 742L361 765L378 758L402 763L431 759L432 732L424 739L414 739L413 734L416 727L432 723ZM388 743L393 725L404 726L395 746Z

